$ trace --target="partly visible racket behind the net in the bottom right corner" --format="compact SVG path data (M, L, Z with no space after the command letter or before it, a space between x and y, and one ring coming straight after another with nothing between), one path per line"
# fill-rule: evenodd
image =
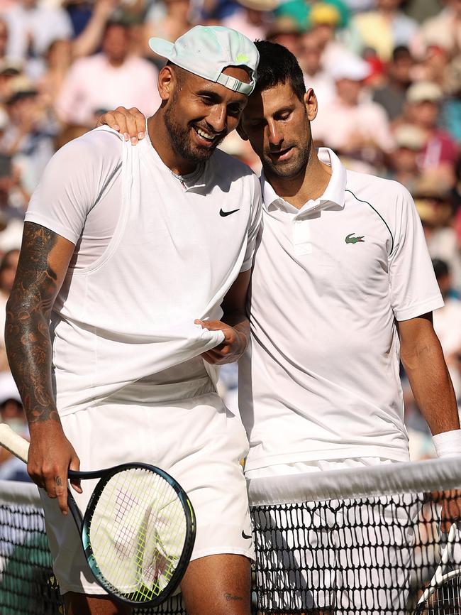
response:
M461 615L461 570L453 570L452 566L457 538L457 526L453 523L440 564L416 605L415 615Z

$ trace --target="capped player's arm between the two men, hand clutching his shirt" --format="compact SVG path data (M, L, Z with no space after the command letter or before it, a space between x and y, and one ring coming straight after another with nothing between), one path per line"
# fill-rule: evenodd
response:
M221 330L224 334L221 344L201 355L208 363L223 365L238 361L248 346L250 321L245 313L245 304L250 276L249 269L239 273L235 279L221 304L224 312L221 320L195 321L204 329Z

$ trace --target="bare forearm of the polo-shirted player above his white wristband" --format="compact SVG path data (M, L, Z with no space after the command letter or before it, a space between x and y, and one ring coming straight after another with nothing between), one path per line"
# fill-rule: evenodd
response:
M435 337L401 354L418 408L433 435L460 428L455 391Z

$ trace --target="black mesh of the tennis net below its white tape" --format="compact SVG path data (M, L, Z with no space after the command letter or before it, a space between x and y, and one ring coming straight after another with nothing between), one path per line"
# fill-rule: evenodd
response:
M436 491L253 506L253 614L413 613L443 553L440 518L461 516L456 496ZM0 615L63 613L40 508L0 505L0 557ZM458 536L447 570L457 567ZM451 599L447 609L437 612L461 615ZM135 612L186 614L180 596Z

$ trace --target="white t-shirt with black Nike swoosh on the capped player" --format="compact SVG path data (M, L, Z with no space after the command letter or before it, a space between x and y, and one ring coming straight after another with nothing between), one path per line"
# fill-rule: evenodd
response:
M61 414L208 392L215 374L199 354L222 332L194 320L219 319L250 268L260 201L254 173L221 151L183 180L148 139L133 147L110 129L55 154L26 221L76 245L52 317Z

